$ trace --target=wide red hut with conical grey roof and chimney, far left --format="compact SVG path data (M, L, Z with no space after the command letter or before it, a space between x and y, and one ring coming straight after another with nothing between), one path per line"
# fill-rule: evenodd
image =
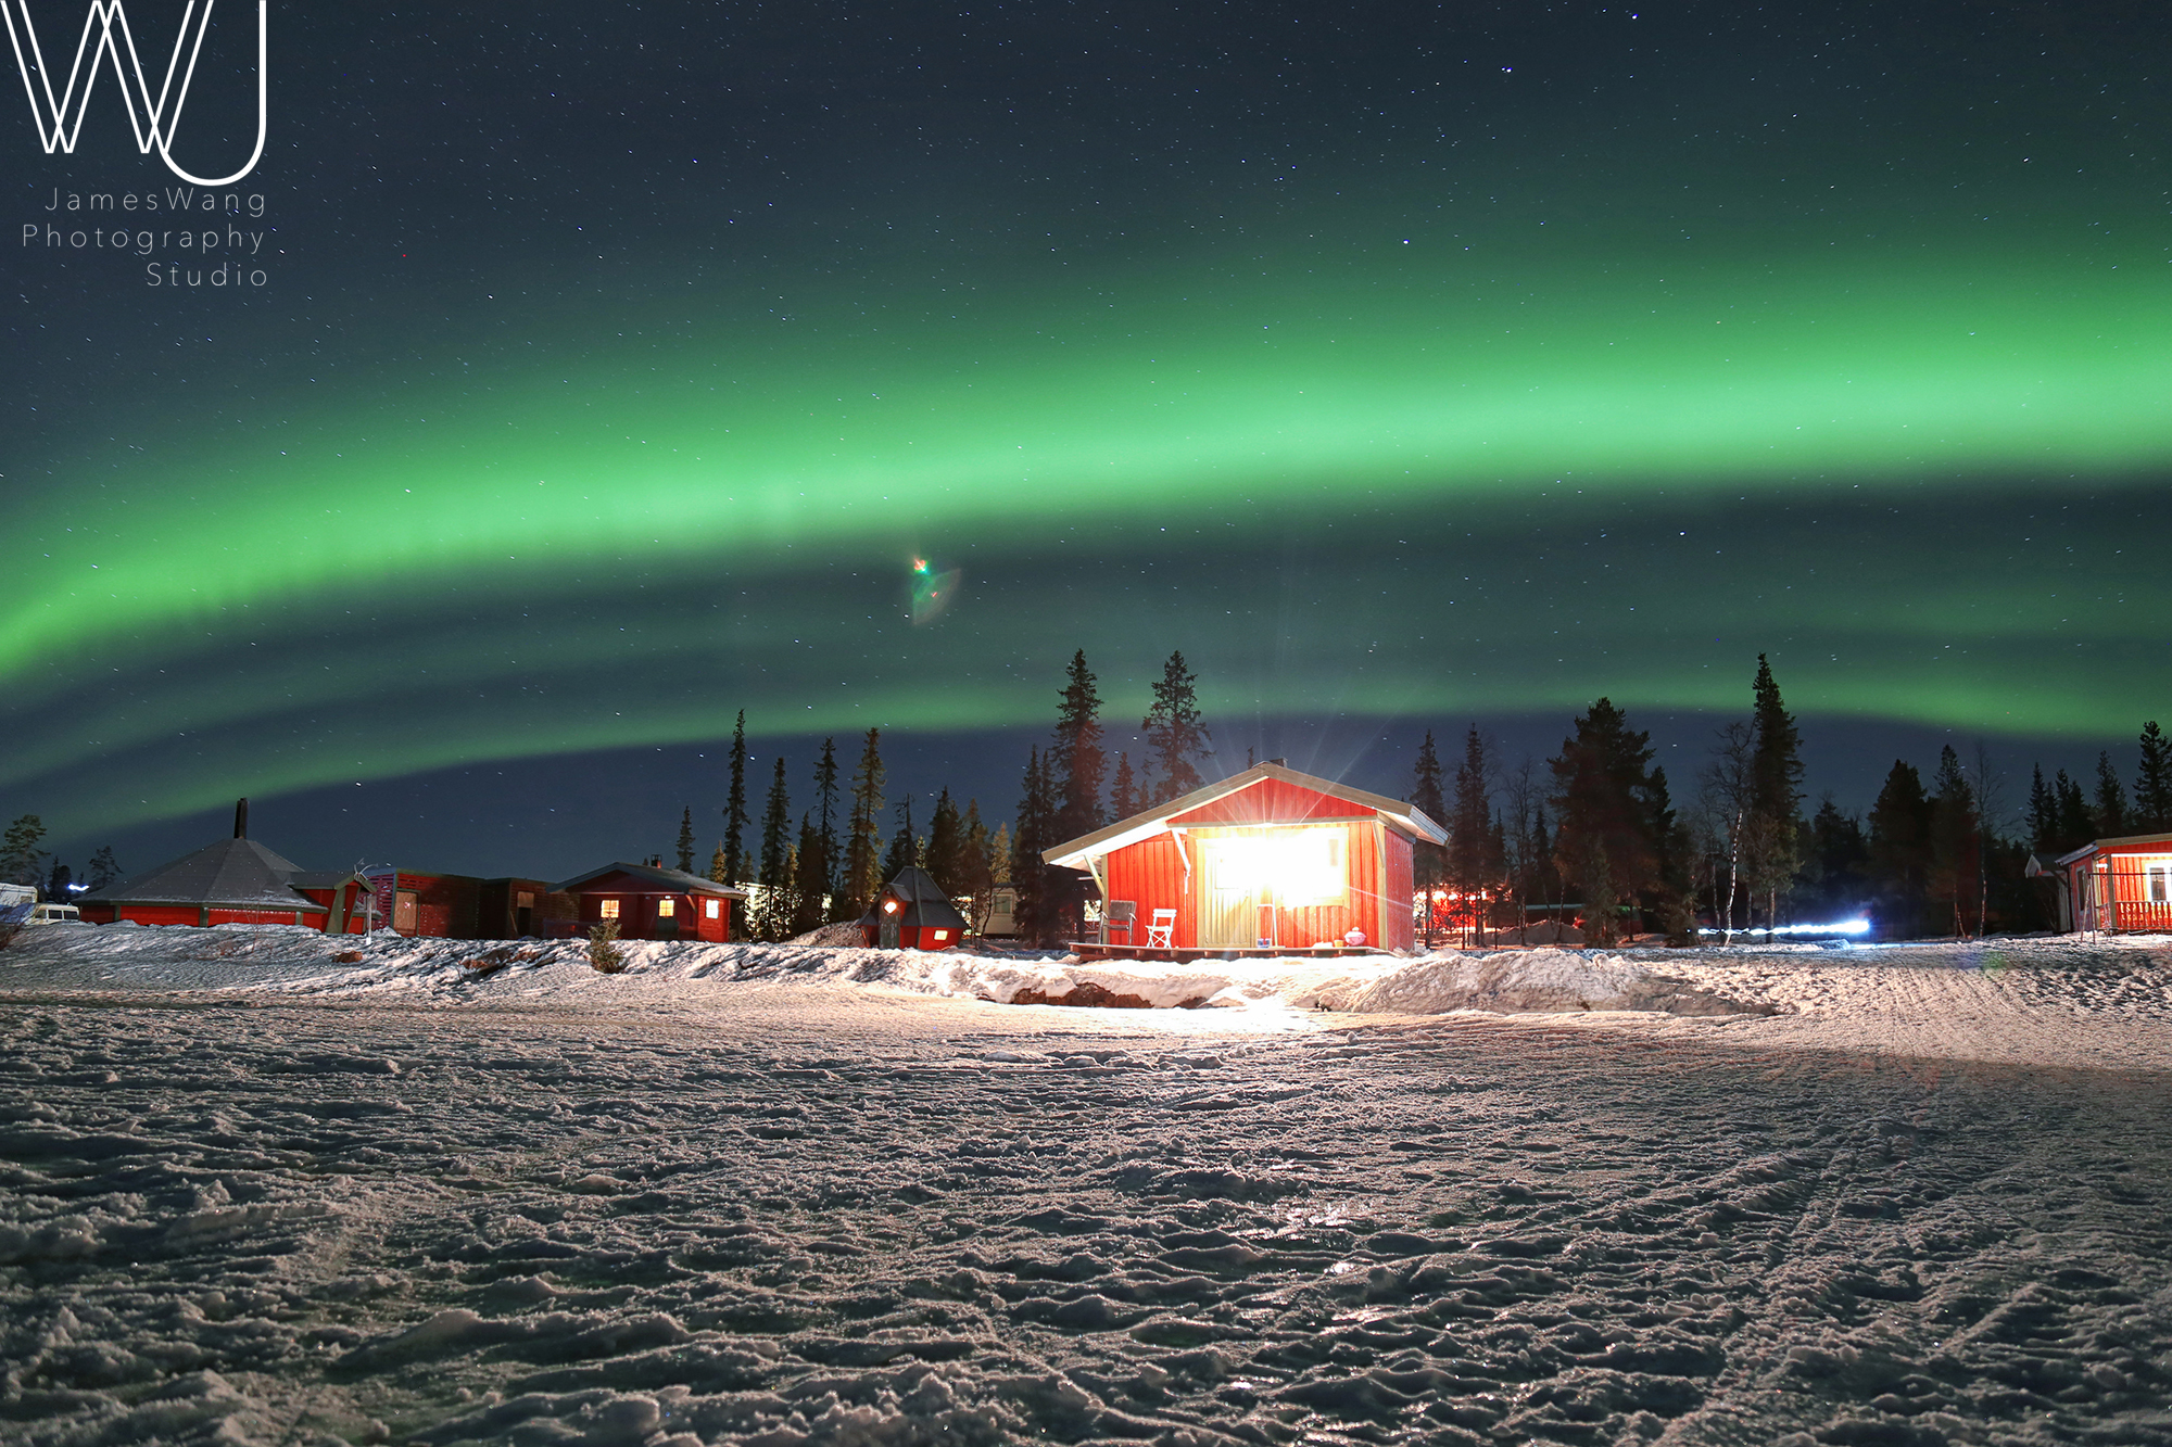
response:
M337 869L304 871L250 839L250 802L235 802L235 836L83 895L93 923L146 926L298 923L324 930L345 915L363 882Z

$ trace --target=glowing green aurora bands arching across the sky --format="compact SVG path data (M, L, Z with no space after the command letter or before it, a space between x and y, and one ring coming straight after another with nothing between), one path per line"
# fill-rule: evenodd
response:
M1040 252L830 204L636 287L417 282L245 406L46 439L0 793L104 830L736 708L1038 728L1073 647L1110 713L1171 647L1210 717L1442 721L1740 708L1770 652L1809 717L2129 734L2172 706L2163 206L2024 161L1831 204L1290 167ZM917 556L964 578L927 628Z

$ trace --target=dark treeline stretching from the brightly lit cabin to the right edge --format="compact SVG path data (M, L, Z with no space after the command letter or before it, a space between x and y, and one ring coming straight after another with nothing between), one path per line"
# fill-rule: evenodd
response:
M2055 904L2048 880L2029 878L2031 856L2172 830L2172 747L2155 721L2142 726L2133 789L2102 754L2094 791L2035 769L2016 813L1985 745L1966 758L1946 745L1929 780L1894 760L1868 817L1831 793L1805 817L1801 730L1764 654L1746 717L1716 730L1685 797L1612 700L1573 730L1538 787L1529 763L1494 780L1473 728L1453 797L1425 737L1410 800L1449 830L1447 847L1420 845L1416 858L1429 939L1486 943L1531 919L1573 921L1592 943L1857 917L1883 939L2046 930Z

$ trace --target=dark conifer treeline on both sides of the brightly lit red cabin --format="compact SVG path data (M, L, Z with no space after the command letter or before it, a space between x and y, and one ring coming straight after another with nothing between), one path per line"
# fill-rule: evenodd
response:
M934 795L925 826L914 797L888 806L882 737L869 730L841 782L832 741L812 776L812 806L795 813L791 778L773 760L758 852L749 815L745 715L732 737L725 832L710 878L756 884L754 939L791 939L858 919L884 880L919 865L986 926L997 891L1012 895L1012 926L1049 943L1082 926L1090 880L1051 869L1043 852L1203 784L1212 734L1197 678L1175 652L1145 717L1142 752L1108 747L1101 693L1084 652L1056 695L1056 728L1027 750L1019 804L990 830L980 804ZM1477 726L1453 767L1427 732L1410 802L1449 834L1420 843L1414 865L1418 928L1427 943L1557 939L1592 943L1664 934L1690 943L1788 926L1868 917L1883 939L2044 930L2055 926L2048 882L2026 878L2031 854L2053 860L2092 839L2172 830L2172 743L2142 726L2133 784L2109 754L2089 787L2037 769L2026 802L2013 797L1985 745L1944 747L1924 776L1894 760L1868 815L1831 793L1807 808L1803 737L1764 654L1746 710L1714 730L1696 776L1670 780L1651 737L1612 700L1570 724L1546 760L1503 769ZM693 863L693 810L680 819L680 867Z

